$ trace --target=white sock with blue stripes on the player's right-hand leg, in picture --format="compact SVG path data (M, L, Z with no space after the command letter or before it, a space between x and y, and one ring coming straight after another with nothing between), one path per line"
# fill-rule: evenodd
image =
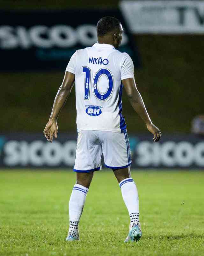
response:
M135 225L138 225L140 227L139 197L135 182L132 178L127 178L120 181L119 185L124 203L130 215L130 226L134 227Z

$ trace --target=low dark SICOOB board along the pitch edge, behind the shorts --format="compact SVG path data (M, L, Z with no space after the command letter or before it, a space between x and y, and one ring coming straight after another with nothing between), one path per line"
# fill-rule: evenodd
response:
M204 168L204 137L129 134L132 168ZM53 143L41 133L0 135L0 167L72 168L77 134L60 133Z

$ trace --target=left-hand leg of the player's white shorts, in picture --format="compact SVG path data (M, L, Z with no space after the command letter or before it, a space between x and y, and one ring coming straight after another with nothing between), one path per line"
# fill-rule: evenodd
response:
M74 171L92 172L101 169L102 146L95 131L78 133Z

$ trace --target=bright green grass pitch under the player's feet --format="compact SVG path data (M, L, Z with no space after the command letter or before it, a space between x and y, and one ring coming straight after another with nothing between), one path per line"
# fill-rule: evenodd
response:
M125 244L129 217L111 171L96 172L70 243L75 173L0 172L0 255L204 255L204 173L133 171L142 239Z

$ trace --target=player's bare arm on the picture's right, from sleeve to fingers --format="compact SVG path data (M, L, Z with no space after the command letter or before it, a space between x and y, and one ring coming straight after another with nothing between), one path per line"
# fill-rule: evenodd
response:
M135 109L135 112L145 122L149 132L151 132L154 135L153 140L155 142L158 141L161 138L162 134L161 134L159 128L157 128L157 126L152 124L152 121L149 117L147 109L145 108L144 102L142 100L142 96L141 96L140 92L138 91L137 86L135 84L135 78L123 79L122 84L125 87L126 93L128 95L128 99L129 99L132 107Z

